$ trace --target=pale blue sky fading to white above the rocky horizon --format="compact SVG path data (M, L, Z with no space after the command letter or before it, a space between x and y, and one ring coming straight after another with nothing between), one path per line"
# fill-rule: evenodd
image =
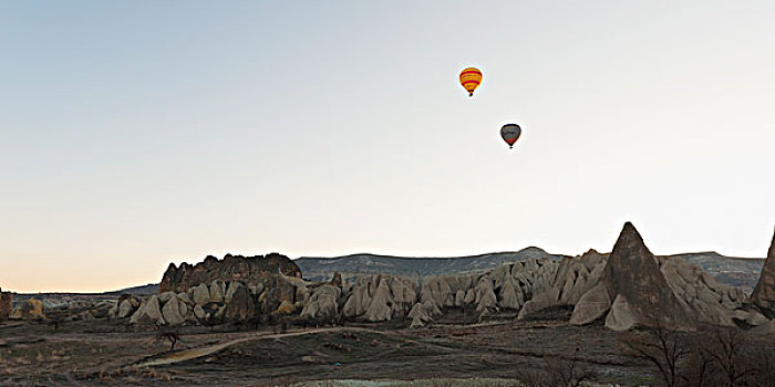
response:
M0 286L110 290L226 252L577 254L627 220L655 253L764 257L773 14L0 1Z

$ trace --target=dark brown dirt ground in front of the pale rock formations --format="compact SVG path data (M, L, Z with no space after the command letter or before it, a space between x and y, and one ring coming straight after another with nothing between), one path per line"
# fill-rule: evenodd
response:
M525 380L549 363L595 372L601 385L653 385L653 369L602 326L562 320L477 324L461 313L423 330L405 322L258 331L180 331L169 342L126 321L0 325L0 385L286 386L329 379ZM556 316L555 316L556 317ZM515 381L516 383L516 381ZM311 383L310 383L311 384ZM320 384L317 384L320 385ZM434 385L436 385L434 383ZM450 385L450 384L441 384Z

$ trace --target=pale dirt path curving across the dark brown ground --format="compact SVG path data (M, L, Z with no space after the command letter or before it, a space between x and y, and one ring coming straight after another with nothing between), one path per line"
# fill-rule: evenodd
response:
M366 328L360 328L360 327L338 326L338 327L330 327L330 328L314 328L314 330L308 330L308 331L298 331L298 332L290 332L290 333L280 333L280 334L257 334L257 335L251 335L248 337L236 338L236 339L228 341L228 342L220 343L220 344L214 344L214 345L207 345L207 346L198 347L198 348L178 351L178 352L175 352L175 353L172 353L168 355L164 355L162 357L157 357L157 358L142 362L140 364L136 364L136 366L138 366L138 367L153 367L153 366L180 363L180 362L189 360L193 358L211 355L211 354L215 354L217 352L224 351L232 345L236 345L239 343L245 343L245 342L252 342L252 341L259 341L259 339L270 339L270 338L293 337L293 336L311 335L311 334L317 334L317 333L342 332L342 331L381 333L381 332L366 330Z

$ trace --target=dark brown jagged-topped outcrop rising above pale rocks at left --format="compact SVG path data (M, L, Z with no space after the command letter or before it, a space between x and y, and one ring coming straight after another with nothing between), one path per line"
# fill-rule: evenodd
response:
M257 279L273 274L301 278L301 270L288 257L278 253L266 257L226 254L223 260L208 255L204 262L196 265L184 262L177 268L170 263L162 278L158 292L186 292L190 287L203 283L210 284L217 280L223 283L240 281L250 284ZM219 291L221 296L226 292L225 289L219 289Z

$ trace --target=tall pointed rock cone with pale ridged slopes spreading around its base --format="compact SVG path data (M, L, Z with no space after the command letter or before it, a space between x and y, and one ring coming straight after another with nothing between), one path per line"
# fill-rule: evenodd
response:
M574 306L570 323L603 321L614 330L655 323L680 327L694 322L733 325L735 320L761 323L735 312L745 294L722 285L679 257L654 257L631 223L624 224L611 254L590 250L564 259L556 278L528 301L519 318L551 306Z

